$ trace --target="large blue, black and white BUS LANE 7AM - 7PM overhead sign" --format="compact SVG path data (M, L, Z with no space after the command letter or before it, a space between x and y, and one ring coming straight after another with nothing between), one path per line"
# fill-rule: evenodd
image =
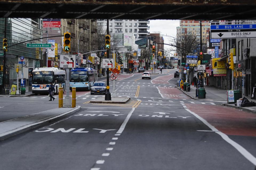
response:
M255 38L256 24L211 25L211 38Z

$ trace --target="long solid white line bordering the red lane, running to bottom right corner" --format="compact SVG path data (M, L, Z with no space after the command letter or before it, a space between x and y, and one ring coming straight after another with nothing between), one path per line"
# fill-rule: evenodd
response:
M241 145L230 139L225 133L220 132L218 129L216 129L213 125L209 124L205 119L198 116L198 114L190 111L185 104L182 104L183 107L188 111L189 113L193 114L196 118L201 120L206 126L208 126L211 130L215 131L215 133L219 134L222 139L224 139L227 143L232 145L238 152L240 152L246 159L248 159L254 166L256 166L256 158L248 152L245 148L243 148Z

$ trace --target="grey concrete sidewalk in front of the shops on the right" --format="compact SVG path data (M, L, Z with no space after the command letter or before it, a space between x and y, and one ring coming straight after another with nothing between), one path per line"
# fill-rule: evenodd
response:
M177 88L179 88L179 87L177 87ZM223 106L233 107L233 108L237 108L239 110L256 113L256 106L255 107L237 107L237 106L235 106L235 103L227 104L227 94L226 94L227 90L224 90L221 88L216 88L213 86L204 86L204 88L206 91L206 98L204 100L226 101L225 104L223 104ZM195 96L195 90L196 90L196 87L190 86L189 92L186 92L183 90L182 90L182 92L192 99L199 100L198 97ZM242 96L242 97L245 97L245 96ZM254 102L256 101L255 99L249 99L248 97L246 97L246 98L249 101L254 101Z

